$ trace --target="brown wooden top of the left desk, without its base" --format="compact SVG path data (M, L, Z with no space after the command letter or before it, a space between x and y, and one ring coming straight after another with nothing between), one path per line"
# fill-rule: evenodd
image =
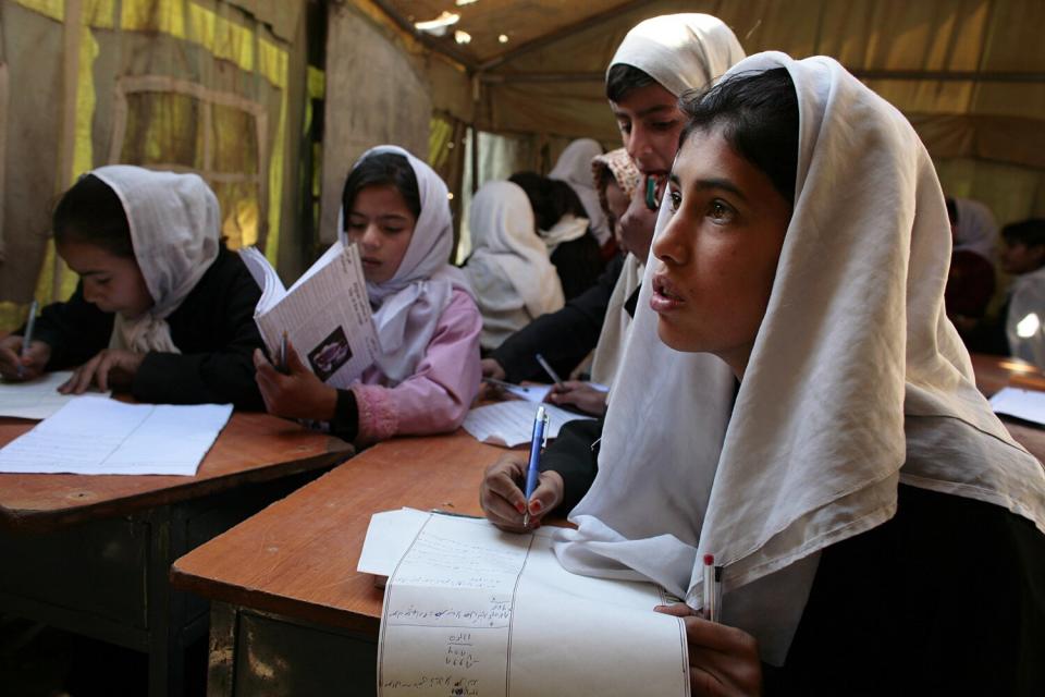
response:
M0 445L37 421L0 418ZM235 412L193 477L0 474L0 529L45 530L334 465L352 445L268 414Z

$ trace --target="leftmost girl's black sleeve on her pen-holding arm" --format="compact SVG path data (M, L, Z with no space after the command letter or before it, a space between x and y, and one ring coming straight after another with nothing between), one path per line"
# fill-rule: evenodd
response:
M33 327L33 339L51 347L48 370L73 368L93 358L109 346L112 335L112 313L103 313L84 299L84 284L64 303L44 308ZM25 327L15 333L25 335Z

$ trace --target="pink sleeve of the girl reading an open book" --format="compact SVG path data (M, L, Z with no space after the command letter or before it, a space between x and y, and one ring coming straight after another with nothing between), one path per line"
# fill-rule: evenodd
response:
M479 332L482 316L464 291L455 290L417 370L394 388L356 383L359 444L396 435L442 433L462 421L479 393Z

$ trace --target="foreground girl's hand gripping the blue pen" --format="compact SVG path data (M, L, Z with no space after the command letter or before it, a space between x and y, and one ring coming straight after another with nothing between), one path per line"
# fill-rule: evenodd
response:
M527 533L539 527L541 518L563 500L565 484L557 472L542 472L529 501L530 524L522 525L527 501L521 485L526 481L528 456L511 452L487 467L479 487L479 504L487 519L508 533Z

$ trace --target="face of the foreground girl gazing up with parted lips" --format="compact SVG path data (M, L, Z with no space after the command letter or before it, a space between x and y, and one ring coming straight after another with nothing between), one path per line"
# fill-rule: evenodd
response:
M653 242L657 334L677 351L715 354L741 377L791 206L717 129L687 138L669 181L675 215Z

